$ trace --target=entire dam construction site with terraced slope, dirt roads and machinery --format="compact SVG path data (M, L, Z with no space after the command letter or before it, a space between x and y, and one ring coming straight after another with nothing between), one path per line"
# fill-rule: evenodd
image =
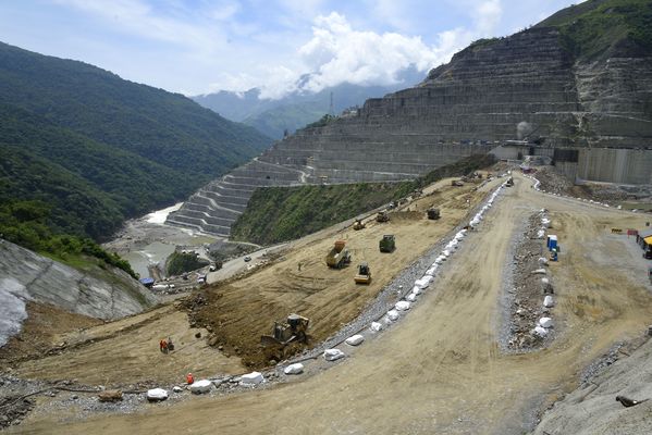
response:
M652 433L652 37L618 14L652 23L476 40L106 262L0 234L0 433Z

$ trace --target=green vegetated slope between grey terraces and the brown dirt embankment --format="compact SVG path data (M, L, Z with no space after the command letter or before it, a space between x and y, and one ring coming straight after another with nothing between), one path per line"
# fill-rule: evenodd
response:
M403 183L258 188L231 227L231 239L270 245L299 238L405 197L416 188L493 162L493 156L472 156Z

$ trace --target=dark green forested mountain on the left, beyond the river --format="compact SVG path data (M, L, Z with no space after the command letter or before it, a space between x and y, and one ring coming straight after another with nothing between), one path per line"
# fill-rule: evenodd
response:
M0 44L0 233L28 248L104 239L270 144L184 96Z

